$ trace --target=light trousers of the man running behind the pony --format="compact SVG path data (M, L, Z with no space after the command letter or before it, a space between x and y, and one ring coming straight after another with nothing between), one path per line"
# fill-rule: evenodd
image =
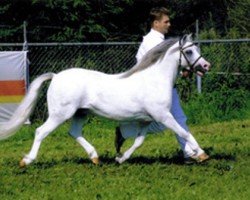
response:
M179 95L177 93L177 89L173 89L173 99L172 99L172 107L171 107L171 113L174 116L175 120L180 124L182 128L184 128L186 131L189 132L188 126L186 124L187 117L184 114L179 100ZM158 122L151 122L147 125L139 124L138 122L122 122L120 124L120 130L122 133L122 136L127 139L129 137L136 137L137 135L141 134L142 132L150 132L150 133L157 133L166 130L166 127ZM191 134L189 132L189 134ZM204 151L202 149L199 149L199 152L194 152L189 145L186 144L186 141L180 137L179 135L175 134L178 143L181 146L181 149L184 153L184 157L190 157L195 154L200 155ZM192 135L192 134L191 134Z

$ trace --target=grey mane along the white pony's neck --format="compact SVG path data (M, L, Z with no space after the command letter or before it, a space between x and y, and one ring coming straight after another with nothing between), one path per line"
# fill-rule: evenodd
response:
M167 50L173 46L179 38L169 38L158 44L156 47L148 51L141 59L141 62L135 64L130 70L125 72L120 78L127 78L132 74L147 69L152 66L156 61L163 58Z

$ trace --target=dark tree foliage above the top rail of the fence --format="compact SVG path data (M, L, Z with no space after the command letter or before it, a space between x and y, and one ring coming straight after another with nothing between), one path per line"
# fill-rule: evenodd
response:
M198 19L217 37L249 37L249 0L1 0L1 42L22 42L24 21L29 42L140 41L154 6L170 10L171 35L195 32Z

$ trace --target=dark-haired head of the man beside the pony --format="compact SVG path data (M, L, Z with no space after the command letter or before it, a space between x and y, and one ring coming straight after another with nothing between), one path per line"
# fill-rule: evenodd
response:
M162 33L168 33L171 26L168 10L164 7L152 8L149 14L151 28Z

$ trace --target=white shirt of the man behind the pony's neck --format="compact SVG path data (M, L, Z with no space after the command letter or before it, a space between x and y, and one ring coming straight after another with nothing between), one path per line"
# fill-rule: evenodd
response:
M136 60L139 62L142 57L152 48L164 41L164 35L154 29L143 37L142 43L136 54Z

